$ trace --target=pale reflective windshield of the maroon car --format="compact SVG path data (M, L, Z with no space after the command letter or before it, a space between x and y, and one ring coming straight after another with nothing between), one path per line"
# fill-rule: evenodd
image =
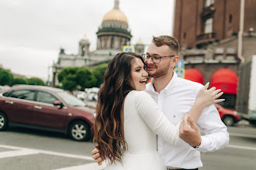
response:
M57 93L68 105L72 107L85 107L85 103L67 92Z

